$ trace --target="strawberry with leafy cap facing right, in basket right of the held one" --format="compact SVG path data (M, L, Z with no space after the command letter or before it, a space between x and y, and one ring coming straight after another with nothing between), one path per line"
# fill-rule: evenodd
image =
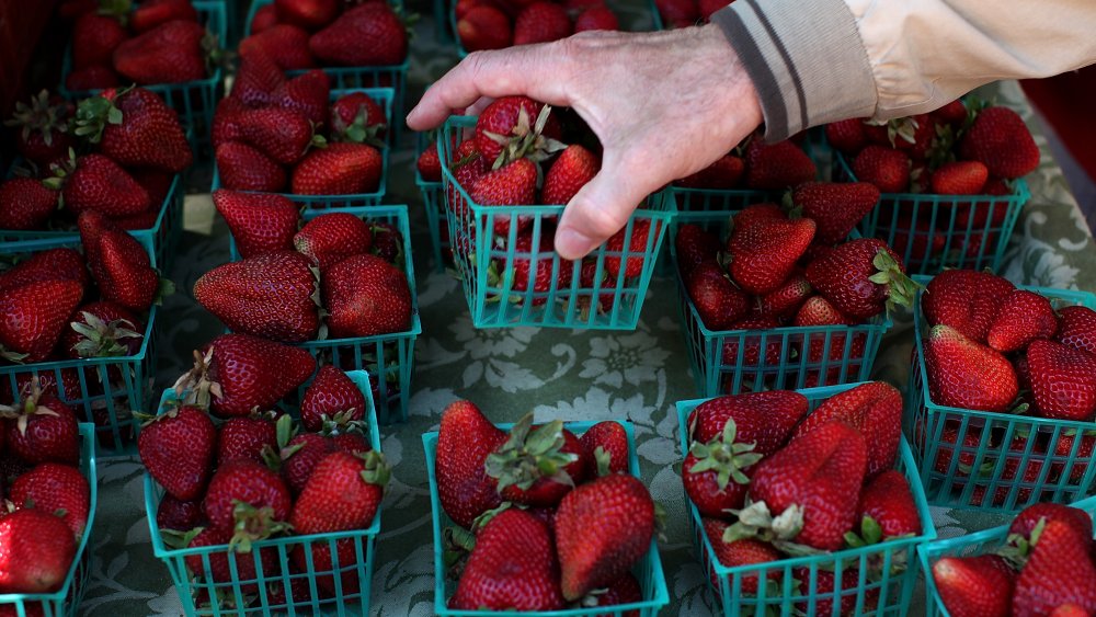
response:
M807 279L834 308L860 320L895 305L912 306L916 289L901 258L875 238L849 240L815 259Z

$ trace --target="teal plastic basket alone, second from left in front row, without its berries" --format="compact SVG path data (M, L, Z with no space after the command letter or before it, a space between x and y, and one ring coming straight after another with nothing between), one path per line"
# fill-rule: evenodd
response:
M380 433L377 416L373 407L373 396L369 392L369 377L364 370L347 373L368 403L366 421L369 427L369 444L380 452ZM174 390L163 391L160 399L160 412L164 404L173 400ZM198 548L172 549L164 545L160 528L156 523L156 512L163 498L163 489L145 473L145 512L148 517L149 533L152 538L152 552L163 561L175 583L175 591L183 604L187 617L195 615L235 615L250 617L255 615L365 615L369 614L369 591L373 583L374 544L380 533L381 507L373 524L365 529L339 532L334 534L313 534L309 536L289 536L272 538L252 544L250 553L237 553L228 545ZM320 569L310 556L312 547L328 547L331 551L332 567ZM304 572L264 572L260 556L263 551L277 555L277 563L286 565L295 550L307 550L308 568ZM227 556L231 581L206 582L209 578L209 559L213 556ZM191 576L186 567L187 557L197 557L202 561L202 575ZM242 560L254 562L256 579L240 580L238 563ZM339 572L339 575L333 575ZM321 596L320 580L329 580L334 584L330 597ZM353 589L357 586L357 589ZM216 596L222 598L221 604L196 602L195 598ZM252 599L253 598L253 599ZM250 602L249 602L250 601Z

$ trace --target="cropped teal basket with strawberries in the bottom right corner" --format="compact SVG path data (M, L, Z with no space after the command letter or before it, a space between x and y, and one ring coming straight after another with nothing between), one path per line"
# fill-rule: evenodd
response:
M1039 503L1008 524L922 546L928 617L1096 614L1096 498Z

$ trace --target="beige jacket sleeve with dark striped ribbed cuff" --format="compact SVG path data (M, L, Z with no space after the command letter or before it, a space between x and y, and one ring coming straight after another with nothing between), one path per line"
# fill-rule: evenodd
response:
M1096 62L1096 0L738 0L712 22L754 81L769 140Z

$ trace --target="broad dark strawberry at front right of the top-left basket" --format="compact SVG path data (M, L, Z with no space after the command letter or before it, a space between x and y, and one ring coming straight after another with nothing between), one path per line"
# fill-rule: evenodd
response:
M139 84L183 83L206 77L205 26L175 20L123 42L114 49L114 70Z

